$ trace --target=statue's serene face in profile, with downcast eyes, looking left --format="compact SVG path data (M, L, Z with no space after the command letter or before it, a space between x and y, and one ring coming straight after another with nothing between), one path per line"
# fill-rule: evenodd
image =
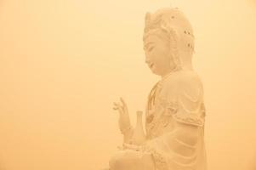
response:
M151 34L146 37L144 42L145 63L151 71L164 76L171 71L171 60L169 57L169 42L167 37L159 34Z

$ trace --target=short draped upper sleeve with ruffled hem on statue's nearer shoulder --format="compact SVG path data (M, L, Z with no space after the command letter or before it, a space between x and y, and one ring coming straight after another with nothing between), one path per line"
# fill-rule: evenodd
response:
M168 96L168 110L179 123L203 127L205 108L200 80L181 80L176 84L176 92Z

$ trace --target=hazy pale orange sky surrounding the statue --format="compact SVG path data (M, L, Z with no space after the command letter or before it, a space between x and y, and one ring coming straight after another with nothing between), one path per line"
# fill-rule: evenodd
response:
M256 2L1 0L0 169L100 170L122 144L120 96L145 111L145 13L178 6L196 36L209 170L254 170Z

